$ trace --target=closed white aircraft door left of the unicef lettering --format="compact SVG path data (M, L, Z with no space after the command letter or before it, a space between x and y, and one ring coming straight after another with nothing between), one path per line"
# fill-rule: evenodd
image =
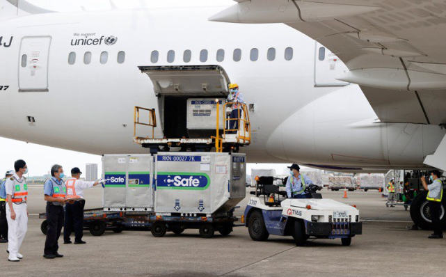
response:
M48 91L50 36L22 38L19 56L19 92Z

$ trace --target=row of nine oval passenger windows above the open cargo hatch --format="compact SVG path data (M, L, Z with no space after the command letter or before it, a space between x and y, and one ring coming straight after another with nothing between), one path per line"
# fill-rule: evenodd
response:
M200 62L205 63L207 62L207 58L208 58L208 54L209 52L207 51L207 49L202 49L200 51ZM292 47L287 47L285 49L285 61L291 61L293 59L293 48ZM192 58L192 52L191 50L184 50L183 53L183 61L184 63L189 63L191 61ZM259 58L259 49L257 48L253 48L250 50L250 61L257 61ZM276 48L269 48L268 52L266 53L266 59L268 61L274 61L276 60ZM152 63L158 63L159 60L159 52L157 50L152 51L152 53L150 54L150 62ZM216 53L216 60L218 62L222 62L225 60L225 50L223 49L218 49L217 53ZM234 52L232 53L232 60L234 61L241 61L241 49L234 49ZM169 50L167 52L167 62L168 63L173 63L175 61L175 51L174 50Z

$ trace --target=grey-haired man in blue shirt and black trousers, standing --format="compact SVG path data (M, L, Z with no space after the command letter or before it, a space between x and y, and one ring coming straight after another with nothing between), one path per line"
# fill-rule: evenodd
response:
M43 187L45 200L47 201L47 239L43 257L47 259L62 258L59 254L58 239L61 236L63 227L65 194L67 189L62 178L64 177L63 168L58 164L51 167L51 178L49 178Z

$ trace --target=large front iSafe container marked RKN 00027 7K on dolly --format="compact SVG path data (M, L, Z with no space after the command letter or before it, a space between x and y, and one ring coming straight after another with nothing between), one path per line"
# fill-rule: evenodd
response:
M157 214L228 212L246 196L246 156L212 152L155 155Z

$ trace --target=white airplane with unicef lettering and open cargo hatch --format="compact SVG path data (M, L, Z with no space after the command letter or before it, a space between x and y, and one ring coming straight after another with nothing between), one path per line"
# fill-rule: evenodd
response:
M385 16L392 13L386 1L239 2L226 10L78 13L25 6L41 14L1 17L0 136L97 155L148 152L132 141L134 106L170 116L155 129L157 138L185 131L185 106L162 93L173 84L157 86L168 73L151 80L138 66L218 65L225 72L218 81L239 84L254 109L253 143L242 149L250 162L442 168L424 164L445 136L445 91L434 90L445 88L445 76L438 77L445 65L432 64L441 62L445 42L429 33L444 33L440 17L418 11L421 3L409 5L412 13L428 18L407 15L397 24ZM346 4L353 2L363 6ZM429 19L430 26L420 23ZM386 32L380 21L395 28ZM205 72L193 74L188 84L201 89Z

